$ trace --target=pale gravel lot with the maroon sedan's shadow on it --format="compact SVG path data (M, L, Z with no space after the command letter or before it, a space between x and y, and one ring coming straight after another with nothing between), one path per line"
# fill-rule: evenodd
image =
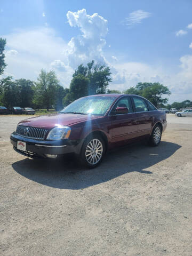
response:
M17 154L21 119L0 116L1 255L192 255L191 117L168 114L158 147L112 151L95 170Z

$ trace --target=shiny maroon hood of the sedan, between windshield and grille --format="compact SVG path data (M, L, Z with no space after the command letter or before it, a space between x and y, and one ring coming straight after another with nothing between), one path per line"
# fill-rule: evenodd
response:
M32 126L37 128L52 129L57 125L70 126L82 121L101 118L102 116L91 116L81 114L53 114L28 118L19 122L19 125Z

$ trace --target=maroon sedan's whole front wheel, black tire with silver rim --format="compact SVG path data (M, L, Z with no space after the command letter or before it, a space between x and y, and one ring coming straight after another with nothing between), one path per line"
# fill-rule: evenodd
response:
M95 150L97 149L97 150ZM83 165L93 169L100 165L105 155L106 145L105 141L99 135L90 135L83 143L79 160Z

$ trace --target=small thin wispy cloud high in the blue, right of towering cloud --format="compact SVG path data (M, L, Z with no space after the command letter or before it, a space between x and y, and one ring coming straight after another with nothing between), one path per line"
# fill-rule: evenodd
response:
M135 25L141 23L143 19L149 18L151 15L150 12L145 12L143 10L137 10L134 12L131 12L129 14L129 17L125 18L124 24L127 26Z

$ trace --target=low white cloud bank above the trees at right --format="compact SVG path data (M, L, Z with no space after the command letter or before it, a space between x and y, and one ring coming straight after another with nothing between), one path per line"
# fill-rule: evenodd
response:
M109 88L123 91L138 82L159 82L171 90L169 102L192 99L192 55L181 57L180 63L180 71L172 74L146 63L118 63L111 68L113 82Z

